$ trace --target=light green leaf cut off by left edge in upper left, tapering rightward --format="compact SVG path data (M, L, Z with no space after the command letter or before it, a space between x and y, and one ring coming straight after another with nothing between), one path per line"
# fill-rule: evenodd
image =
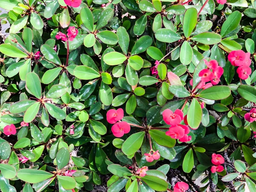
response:
M0 52L14 58L26 58L28 55L11 44L0 44Z

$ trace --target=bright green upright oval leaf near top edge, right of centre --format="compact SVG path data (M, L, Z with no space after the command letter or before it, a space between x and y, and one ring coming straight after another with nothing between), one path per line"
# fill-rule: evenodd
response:
M193 29L196 26L197 18L198 18L198 12L195 8L191 7L186 10L183 18L183 33L186 38L189 38L191 35Z

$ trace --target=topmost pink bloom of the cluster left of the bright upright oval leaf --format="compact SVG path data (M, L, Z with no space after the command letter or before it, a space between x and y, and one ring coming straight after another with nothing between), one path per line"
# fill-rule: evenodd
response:
M168 125L178 125L183 120L183 112L180 109L176 109L173 113L172 110L166 109L163 111L163 120Z

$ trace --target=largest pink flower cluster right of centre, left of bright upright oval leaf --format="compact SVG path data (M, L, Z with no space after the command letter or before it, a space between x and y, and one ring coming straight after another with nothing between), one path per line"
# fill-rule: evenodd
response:
M178 139L180 142L188 142L191 140L191 136L188 136L189 127L180 125L183 119L183 112L180 109L176 109L174 113L170 109L163 111L163 120L166 124L171 125L169 131L166 131L166 135L169 135L172 139Z

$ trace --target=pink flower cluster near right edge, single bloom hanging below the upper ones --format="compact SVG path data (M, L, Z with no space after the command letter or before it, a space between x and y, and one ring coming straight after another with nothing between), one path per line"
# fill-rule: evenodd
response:
M250 76L252 73L250 52L245 53L242 50L231 51L227 58L233 66L238 67L236 73L238 73L240 79L245 80Z

